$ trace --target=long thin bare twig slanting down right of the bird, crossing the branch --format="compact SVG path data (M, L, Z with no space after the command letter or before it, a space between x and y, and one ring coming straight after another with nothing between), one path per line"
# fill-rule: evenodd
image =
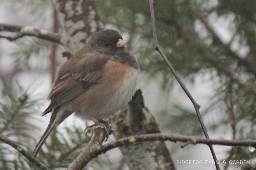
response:
M156 33L156 24L155 24L155 13L154 13L154 1L153 0L149 0L149 4L150 4L150 12L151 12L151 21L152 21L152 29L153 29L153 36L154 36L154 41L155 41L155 49L159 51L159 53L161 54L162 58L164 59L164 61L166 62L166 64L168 65L168 67L170 68L171 72L174 74L174 77L177 79L178 83L181 85L182 89L185 91L185 93L187 94L188 98L190 98L191 102L194 105L194 108L196 110L197 113L197 117L199 119L199 122L202 126L204 135L206 136L206 138L209 138L207 130L204 126L201 114L199 112L199 104L197 104L197 102L194 100L194 98L192 97L192 95L190 94L190 92L187 90L186 86L183 84L182 80L180 79L180 77L178 76L178 74L176 73L176 71L174 70L174 68L172 67L171 63L168 61L168 59L166 58L164 52L162 51L159 43L158 43L158 38L157 38L157 33ZM215 162L218 162L216 154L213 150L212 145L209 145L210 151L212 152L213 155L213 159ZM218 164L215 164L216 169L220 170L220 167Z

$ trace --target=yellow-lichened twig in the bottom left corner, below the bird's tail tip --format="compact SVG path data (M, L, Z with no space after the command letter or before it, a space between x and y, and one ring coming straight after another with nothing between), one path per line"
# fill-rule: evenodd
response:
M0 141L12 146L14 149L16 149L19 153L21 153L24 157L26 157L31 163L34 163L35 165L37 165L38 168L42 169L42 170L50 170L49 168L47 168L47 166L45 164L43 164L42 162L39 162L37 159L35 159L34 157L32 157L29 153L27 153L25 151L25 149L23 149L22 147L20 147L19 145L17 145L14 141L8 139L7 137L4 137L2 135L0 135Z

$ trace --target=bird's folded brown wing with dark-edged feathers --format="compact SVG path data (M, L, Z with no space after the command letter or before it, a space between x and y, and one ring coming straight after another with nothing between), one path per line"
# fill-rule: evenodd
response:
M48 99L49 107L42 113L45 115L53 108L67 103L97 84L101 79L104 66L111 56L102 53L84 53L79 51L59 69L53 83L53 90Z

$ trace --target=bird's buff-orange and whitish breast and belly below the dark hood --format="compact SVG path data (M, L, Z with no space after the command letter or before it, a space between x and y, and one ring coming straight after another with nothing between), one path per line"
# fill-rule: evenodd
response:
M136 90L138 69L129 64L109 60L97 84L79 98L82 106L76 115L87 119L87 115L95 119L110 117L125 107Z

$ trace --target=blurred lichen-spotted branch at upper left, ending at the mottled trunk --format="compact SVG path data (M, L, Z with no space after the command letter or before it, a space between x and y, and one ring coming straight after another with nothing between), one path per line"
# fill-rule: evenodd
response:
M43 29L37 29L31 26L22 26L17 24L4 24L0 23L0 32L14 32L18 33L16 36L0 36L0 38L6 38L10 41L14 41L23 36L35 36L40 39L56 42L58 44L63 44L63 40L59 34L50 32Z

